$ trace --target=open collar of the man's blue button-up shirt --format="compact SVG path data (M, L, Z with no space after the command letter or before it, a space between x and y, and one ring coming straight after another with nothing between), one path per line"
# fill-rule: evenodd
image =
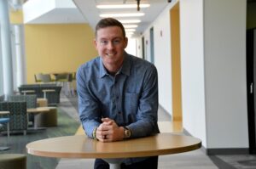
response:
M125 55L124 63L121 67L121 70L119 70L119 73L123 73L127 76L130 76L130 69L131 69L130 55L127 53L125 53L124 55ZM106 75L108 75L108 71L105 69L103 65L102 57L100 57L100 78Z

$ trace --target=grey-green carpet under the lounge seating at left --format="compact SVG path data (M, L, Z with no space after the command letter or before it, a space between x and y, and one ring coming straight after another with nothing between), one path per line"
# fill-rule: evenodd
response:
M7 144L10 149L1 151L0 154L9 153L19 153L26 154L26 144L44 138L55 138L61 136L73 135L77 128L79 127L79 122L70 118L69 115L63 110L58 108L58 126L48 127L44 130L28 130L26 136L20 133L13 133L10 135L8 143L6 135L0 135L0 144ZM27 156L27 169L55 169L59 159L39 157L34 155Z

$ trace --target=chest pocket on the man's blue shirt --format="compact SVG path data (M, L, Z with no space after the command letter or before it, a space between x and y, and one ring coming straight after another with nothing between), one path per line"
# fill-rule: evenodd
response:
M125 93L125 112L126 114L137 115L138 93Z

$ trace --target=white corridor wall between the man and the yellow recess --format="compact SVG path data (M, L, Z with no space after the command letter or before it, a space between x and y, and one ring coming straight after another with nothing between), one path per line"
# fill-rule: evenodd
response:
M158 70L159 77L159 103L170 115L172 115L170 8L175 3L177 1L172 1L157 19L148 26L147 31L143 34L145 42L148 41L145 53L147 59L150 61L150 28L154 27L154 65ZM160 32L162 32L162 36L160 36Z

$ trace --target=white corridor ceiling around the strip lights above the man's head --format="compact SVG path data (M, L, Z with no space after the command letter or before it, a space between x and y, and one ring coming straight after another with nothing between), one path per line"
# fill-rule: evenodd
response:
M125 18L116 18L118 20L141 20L138 23L136 32L134 36L140 35L145 29L148 28L148 25L163 11L164 8L168 5L167 0L140 0L140 4L149 3L149 8L140 8L140 11L137 11L137 8L129 8L129 9L99 9L96 8L96 5L99 4L137 4L137 0L73 0L76 6L79 8L81 13L84 15L85 20L91 25L91 27L95 27L96 23L101 20L100 14L113 14L113 13L144 13L143 16L140 17L125 17Z

